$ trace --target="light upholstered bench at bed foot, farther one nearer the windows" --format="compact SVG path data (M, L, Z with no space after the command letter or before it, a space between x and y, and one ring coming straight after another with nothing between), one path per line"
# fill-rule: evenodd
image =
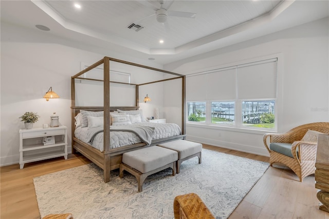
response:
M178 161L176 162L177 173L179 173L180 164L182 161L190 159L192 157L199 157L199 163L201 163L202 144L187 141L187 140L175 140L166 143L158 144L159 147L174 150L178 152Z

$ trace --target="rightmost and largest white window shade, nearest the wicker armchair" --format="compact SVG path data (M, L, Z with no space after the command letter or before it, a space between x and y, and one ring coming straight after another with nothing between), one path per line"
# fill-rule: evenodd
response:
M239 99L277 97L277 59L237 66Z

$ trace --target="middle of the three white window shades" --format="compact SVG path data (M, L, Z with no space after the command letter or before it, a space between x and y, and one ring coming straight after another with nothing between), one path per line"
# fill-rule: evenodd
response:
M235 99L236 68L211 72L207 74L207 100Z

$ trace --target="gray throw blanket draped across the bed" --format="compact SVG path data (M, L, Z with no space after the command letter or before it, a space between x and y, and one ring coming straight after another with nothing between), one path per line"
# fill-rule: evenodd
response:
M135 133L142 142L147 145L150 145L152 142L152 137L155 132L155 127L149 126L138 126L138 127L111 127L110 131L119 131L119 132L132 132ZM95 136L104 131L104 127L90 127L87 132L87 143L92 143Z

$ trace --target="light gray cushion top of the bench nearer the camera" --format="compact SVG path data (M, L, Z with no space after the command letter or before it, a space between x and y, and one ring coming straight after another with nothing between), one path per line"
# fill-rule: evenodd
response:
M178 159L178 153L173 150L152 146L135 151L123 153L122 162L138 170L141 173L147 173L157 168L175 162Z

